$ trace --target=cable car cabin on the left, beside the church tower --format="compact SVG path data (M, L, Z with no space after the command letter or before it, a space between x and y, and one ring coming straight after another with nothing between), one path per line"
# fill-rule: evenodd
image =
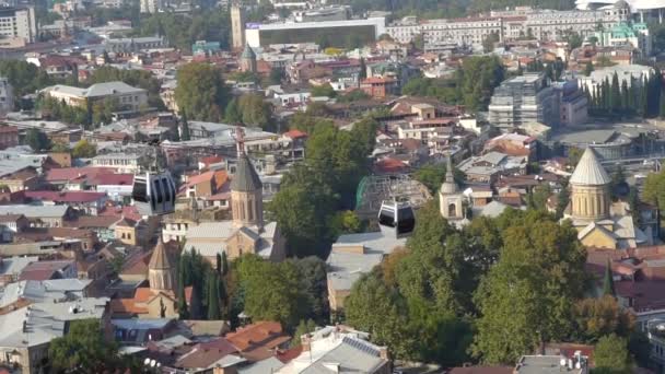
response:
M161 215L175 211L175 183L171 173L145 173L133 177L131 198L141 215Z

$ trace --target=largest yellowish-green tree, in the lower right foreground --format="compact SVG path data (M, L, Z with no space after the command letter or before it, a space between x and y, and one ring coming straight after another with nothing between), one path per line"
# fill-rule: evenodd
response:
M572 301L582 296L586 253L576 231L551 215L505 213L499 262L483 278L474 355L486 363L514 362L541 341L563 339Z

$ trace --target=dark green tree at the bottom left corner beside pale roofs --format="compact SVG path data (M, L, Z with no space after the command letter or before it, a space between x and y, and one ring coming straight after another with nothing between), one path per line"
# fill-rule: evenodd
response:
M48 357L52 367L62 372L82 367L84 373L103 373L125 366L117 343L104 338L97 319L71 322L65 336L50 341Z

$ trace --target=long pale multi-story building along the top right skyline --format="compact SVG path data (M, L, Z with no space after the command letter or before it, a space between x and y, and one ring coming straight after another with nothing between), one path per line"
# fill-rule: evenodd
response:
M454 42L458 45L479 45L488 36L500 42L533 37L540 40L560 40L570 33L591 36L598 25L611 28L626 20L622 10L555 11L518 7L514 10L493 11L487 16L441 19L418 22L406 17L386 27L386 33L400 43L412 42L417 35L425 40Z

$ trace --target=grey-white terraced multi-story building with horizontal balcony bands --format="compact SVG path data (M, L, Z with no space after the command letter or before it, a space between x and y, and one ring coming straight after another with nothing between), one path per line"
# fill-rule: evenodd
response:
M489 105L492 125L511 129L530 122L557 126L560 121L559 94L544 73L527 73L503 81Z

